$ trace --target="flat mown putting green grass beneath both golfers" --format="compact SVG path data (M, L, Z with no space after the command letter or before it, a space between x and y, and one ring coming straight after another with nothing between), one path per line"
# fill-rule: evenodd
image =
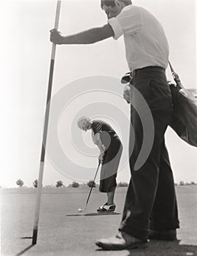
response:
M106 195L98 192L97 188L90 196L87 214L77 214L78 208L85 207L89 189L43 189L38 241L32 247L30 238L34 225L36 189L1 189L1 255L196 255L196 186L176 187L181 222L181 229L178 230L180 241L151 241L147 249L131 252L97 249L96 239L114 235L122 214L90 214L106 200ZM117 189L117 213L123 211L126 189Z

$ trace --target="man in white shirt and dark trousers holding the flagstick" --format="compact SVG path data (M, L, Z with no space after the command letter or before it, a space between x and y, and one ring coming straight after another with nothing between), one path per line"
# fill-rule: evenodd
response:
M154 121L152 150L142 167L134 170L143 143L143 127L136 110L146 109L137 102L131 86L131 125L134 151L130 152L131 181L125 199L123 219L116 236L96 242L103 249L131 249L147 246L147 238L175 240L179 227L174 178L165 146L164 133L172 114L171 91L165 69L169 61L169 44L161 23L147 10L130 0L101 0L108 23L68 37L51 31L56 44L90 44L123 35L133 86L147 102ZM135 106L135 108L133 107ZM131 143L134 140L130 136Z

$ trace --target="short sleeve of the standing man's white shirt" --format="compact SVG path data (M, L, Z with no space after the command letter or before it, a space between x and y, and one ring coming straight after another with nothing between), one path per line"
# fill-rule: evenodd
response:
M135 34L142 29L142 13L139 7L131 4L123 8L117 17L109 19L108 23L115 33L114 39L117 40L123 34Z

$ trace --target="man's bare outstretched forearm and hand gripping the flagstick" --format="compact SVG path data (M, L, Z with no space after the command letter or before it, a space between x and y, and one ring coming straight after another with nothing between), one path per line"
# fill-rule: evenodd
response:
M50 31L50 41L57 45L87 45L113 36L114 31L109 24L100 28L88 29L67 37L61 36L61 33L56 29Z

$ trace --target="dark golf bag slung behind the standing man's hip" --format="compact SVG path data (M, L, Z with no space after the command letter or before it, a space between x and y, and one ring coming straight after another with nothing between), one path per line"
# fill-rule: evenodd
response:
M197 89L185 89L169 62L174 83L169 82L173 99L173 114L169 126L191 146L197 146ZM132 74L123 75L121 83L132 84Z

